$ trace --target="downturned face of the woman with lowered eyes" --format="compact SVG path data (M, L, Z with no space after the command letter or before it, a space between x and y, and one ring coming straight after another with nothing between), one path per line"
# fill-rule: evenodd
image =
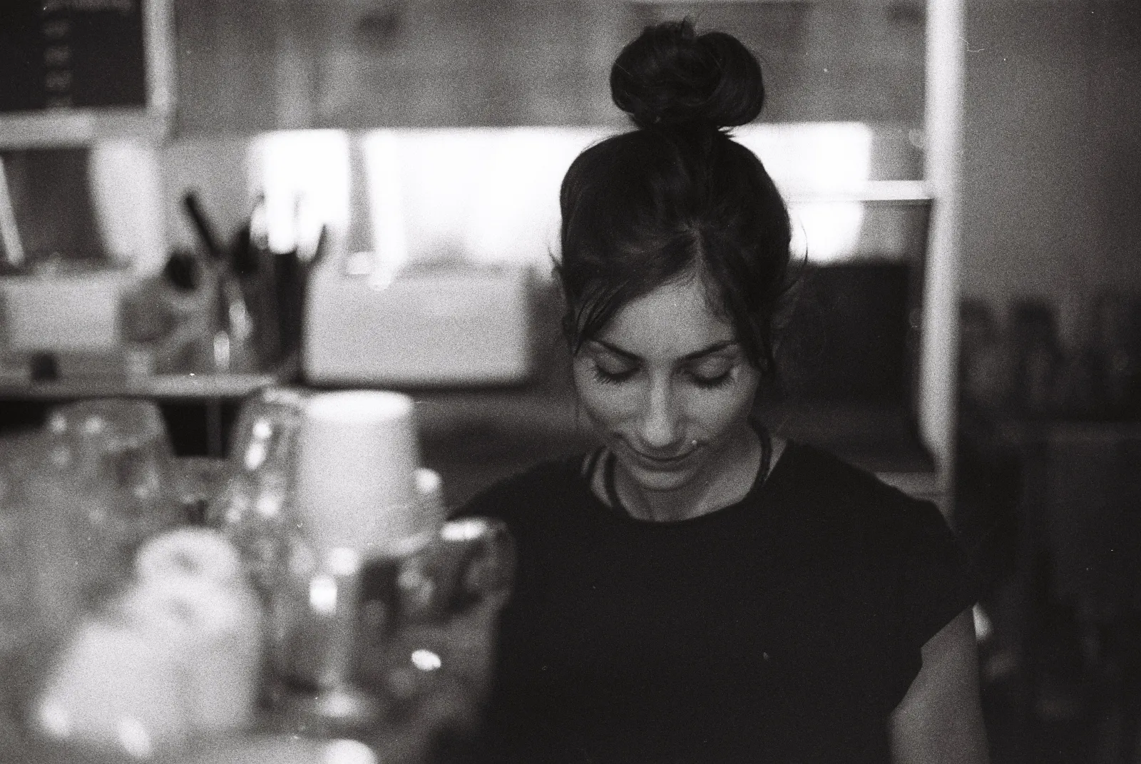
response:
M696 278L625 305L573 368L583 408L642 490L690 484L748 432L759 373Z

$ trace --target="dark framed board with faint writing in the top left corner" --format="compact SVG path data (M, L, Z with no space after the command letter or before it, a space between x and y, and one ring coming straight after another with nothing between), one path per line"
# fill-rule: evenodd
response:
M144 0L0 0L0 112L146 107Z

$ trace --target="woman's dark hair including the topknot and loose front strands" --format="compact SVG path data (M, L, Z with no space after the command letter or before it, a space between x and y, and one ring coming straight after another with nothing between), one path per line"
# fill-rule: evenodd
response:
M630 300L696 276L750 362L771 375L788 211L761 161L726 131L761 112L756 58L729 34L695 34L688 19L657 24L618 55L610 91L638 129L582 152L559 194L572 352Z

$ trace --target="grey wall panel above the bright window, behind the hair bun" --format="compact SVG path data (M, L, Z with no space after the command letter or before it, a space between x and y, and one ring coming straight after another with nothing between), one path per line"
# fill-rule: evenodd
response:
M623 124L610 64L685 14L761 56L766 119L922 122L922 0L176 0L177 129Z

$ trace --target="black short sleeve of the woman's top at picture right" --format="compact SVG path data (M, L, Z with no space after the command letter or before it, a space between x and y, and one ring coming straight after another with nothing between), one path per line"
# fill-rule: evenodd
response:
M958 537L933 504L908 502L903 512L903 637L908 649L919 650L976 603L979 587Z

